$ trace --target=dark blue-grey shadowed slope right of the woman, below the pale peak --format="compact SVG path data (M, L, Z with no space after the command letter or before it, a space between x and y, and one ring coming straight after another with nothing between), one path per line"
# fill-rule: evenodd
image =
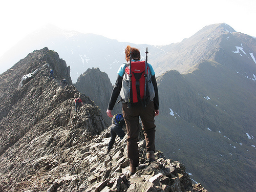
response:
M156 118L159 149L180 159L191 170L191 178L211 191L253 190L254 80L205 61L193 73L169 71L157 81L162 113ZM202 167L207 172L200 173Z

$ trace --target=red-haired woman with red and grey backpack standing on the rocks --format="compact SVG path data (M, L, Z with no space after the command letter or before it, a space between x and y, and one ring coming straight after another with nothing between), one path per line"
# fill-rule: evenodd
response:
M159 101L155 72L152 66L147 63L147 55L146 61L140 61L140 51L127 46L125 49L125 59L127 62L123 63L117 72L118 77L112 90L106 113L109 117L113 117L111 111L120 93L121 99L118 102L122 101L122 112L127 130L127 156L130 159L129 170L131 174L134 174L136 167L139 165L137 143L139 136L139 117L142 121L142 130L146 141L147 161L156 160L154 154L156 152L156 125L154 117L159 114ZM138 77L136 72L143 71L141 68L143 66L144 73L146 74L140 74ZM147 84L146 88L143 85L144 82Z

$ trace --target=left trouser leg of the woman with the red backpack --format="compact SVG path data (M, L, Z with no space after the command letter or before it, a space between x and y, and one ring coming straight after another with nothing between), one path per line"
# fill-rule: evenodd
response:
M139 136L139 110L137 108L127 108L123 103L123 118L127 130L127 156L130 159L130 167L135 169L139 164L138 136Z

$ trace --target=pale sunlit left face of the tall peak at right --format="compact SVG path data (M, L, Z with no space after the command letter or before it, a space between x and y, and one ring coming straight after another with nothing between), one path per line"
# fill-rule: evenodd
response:
M178 70L182 74L194 71L201 61L214 58L221 36L232 32L235 31L228 25L214 24L178 44L162 47L166 54L154 58L157 76L168 70Z

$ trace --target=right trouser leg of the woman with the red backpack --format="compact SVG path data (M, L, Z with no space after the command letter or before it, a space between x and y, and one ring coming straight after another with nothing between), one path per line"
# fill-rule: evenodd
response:
M143 108L140 113L140 118L142 122L142 130L146 141L146 152L153 151L156 152L155 147L155 107L154 102L150 102L146 108Z

